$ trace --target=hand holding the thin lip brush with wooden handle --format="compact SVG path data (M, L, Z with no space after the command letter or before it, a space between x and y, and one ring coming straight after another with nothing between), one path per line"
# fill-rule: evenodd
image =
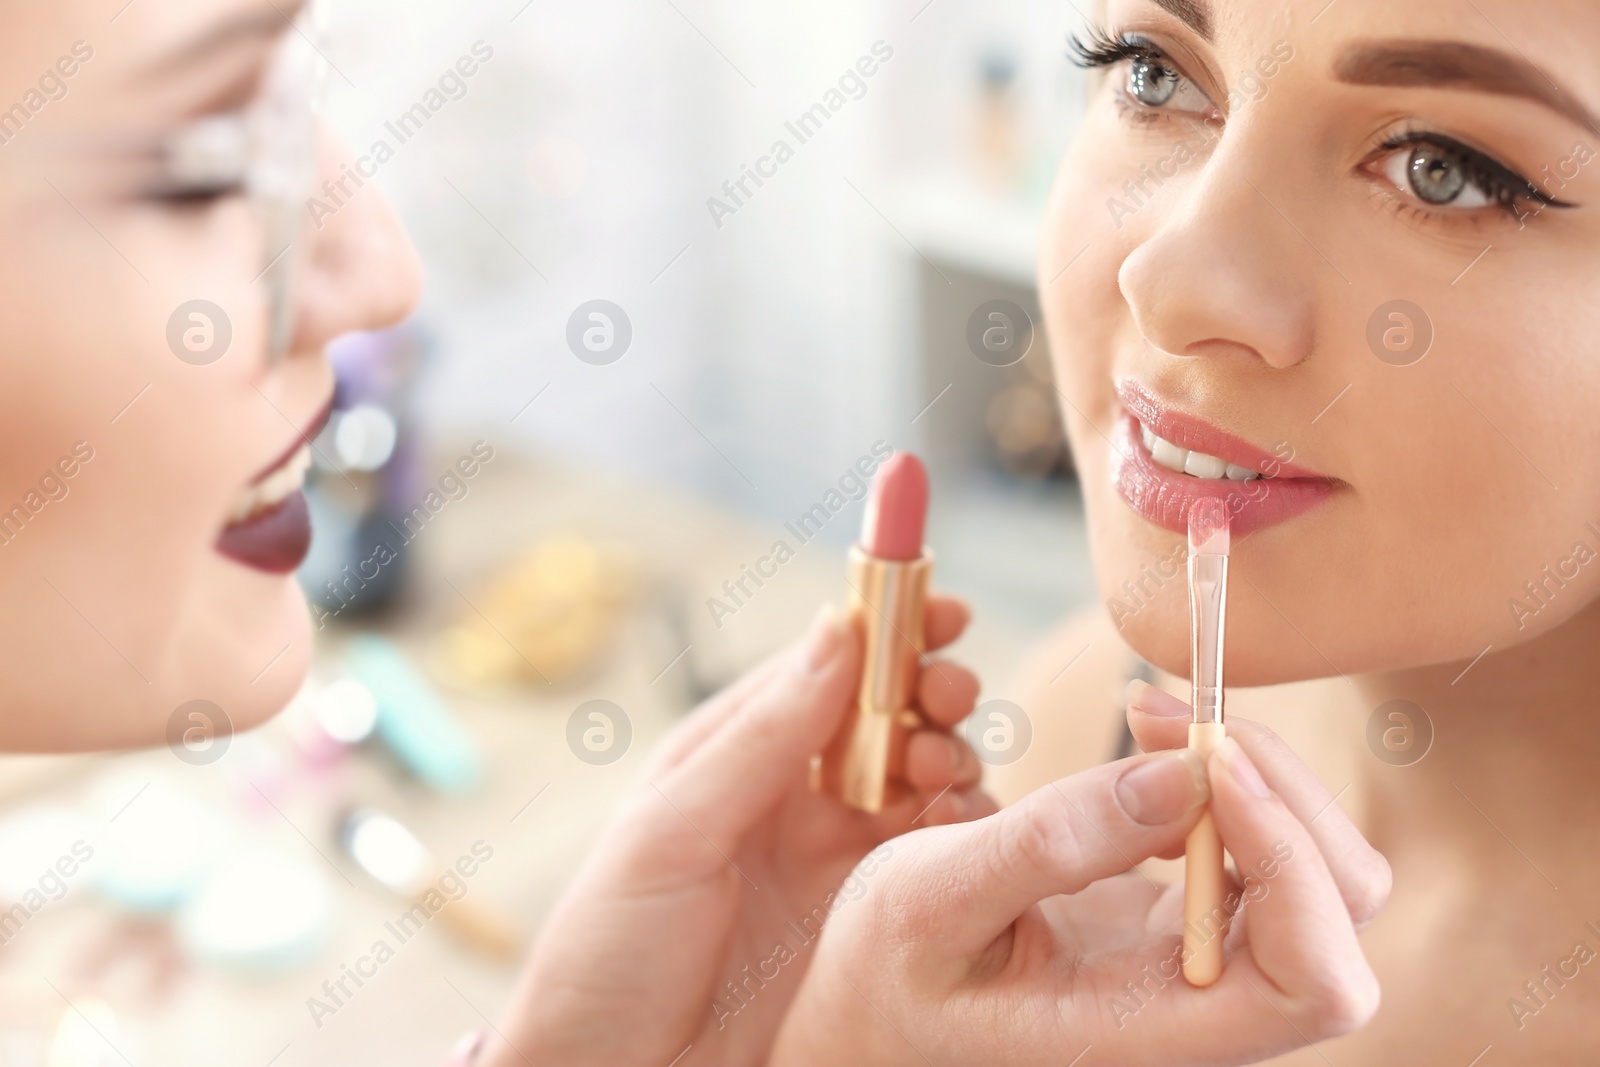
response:
M1256 723L1229 723L1208 787L1179 749L1189 705L1139 686L1134 736L1173 750L894 841L829 923L774 1067L1059 1067L1090 1046L1125 1067L1253 1064L1366 1022L1378 981L1355 934L1387 897L1387 862ZM1221 979L1195 989L1179 974L1182 886L1130 867L1181 854L1208 795L1245 905Z

